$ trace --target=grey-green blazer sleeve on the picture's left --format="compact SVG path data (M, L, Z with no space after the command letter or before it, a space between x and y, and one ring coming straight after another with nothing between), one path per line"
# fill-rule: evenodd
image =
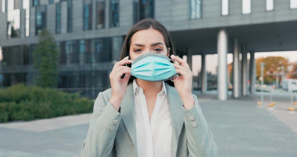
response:
M121 114L100 92L94 103L87 137L81 147L81 156L110 156Z

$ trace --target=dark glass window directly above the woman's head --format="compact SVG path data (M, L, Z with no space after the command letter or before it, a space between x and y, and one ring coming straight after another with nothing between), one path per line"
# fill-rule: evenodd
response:
M154 18L154 0L133 1L133 23L145 18Z

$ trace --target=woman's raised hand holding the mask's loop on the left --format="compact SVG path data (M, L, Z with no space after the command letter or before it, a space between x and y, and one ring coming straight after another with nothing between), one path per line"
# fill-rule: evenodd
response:
M109 74L109 80L111 85L112 96L109 102L113 107L119 111L122 99L127 89L128 81L131 76L131 68L125 66L125 64L131 63L128 59L129 56L116 62ZM125 74L124 78L121 76Z

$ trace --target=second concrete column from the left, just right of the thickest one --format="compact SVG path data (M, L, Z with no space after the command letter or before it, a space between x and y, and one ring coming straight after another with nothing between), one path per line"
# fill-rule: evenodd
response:
M233 41L233 97L239 97L239 42L238 39Z

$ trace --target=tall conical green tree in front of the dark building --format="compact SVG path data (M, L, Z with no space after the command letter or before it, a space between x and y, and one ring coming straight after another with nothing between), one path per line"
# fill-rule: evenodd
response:
M33 65L37 70L36 85L56 88L60 52L54 38L46 29L40 32L39 41L32 55Z

